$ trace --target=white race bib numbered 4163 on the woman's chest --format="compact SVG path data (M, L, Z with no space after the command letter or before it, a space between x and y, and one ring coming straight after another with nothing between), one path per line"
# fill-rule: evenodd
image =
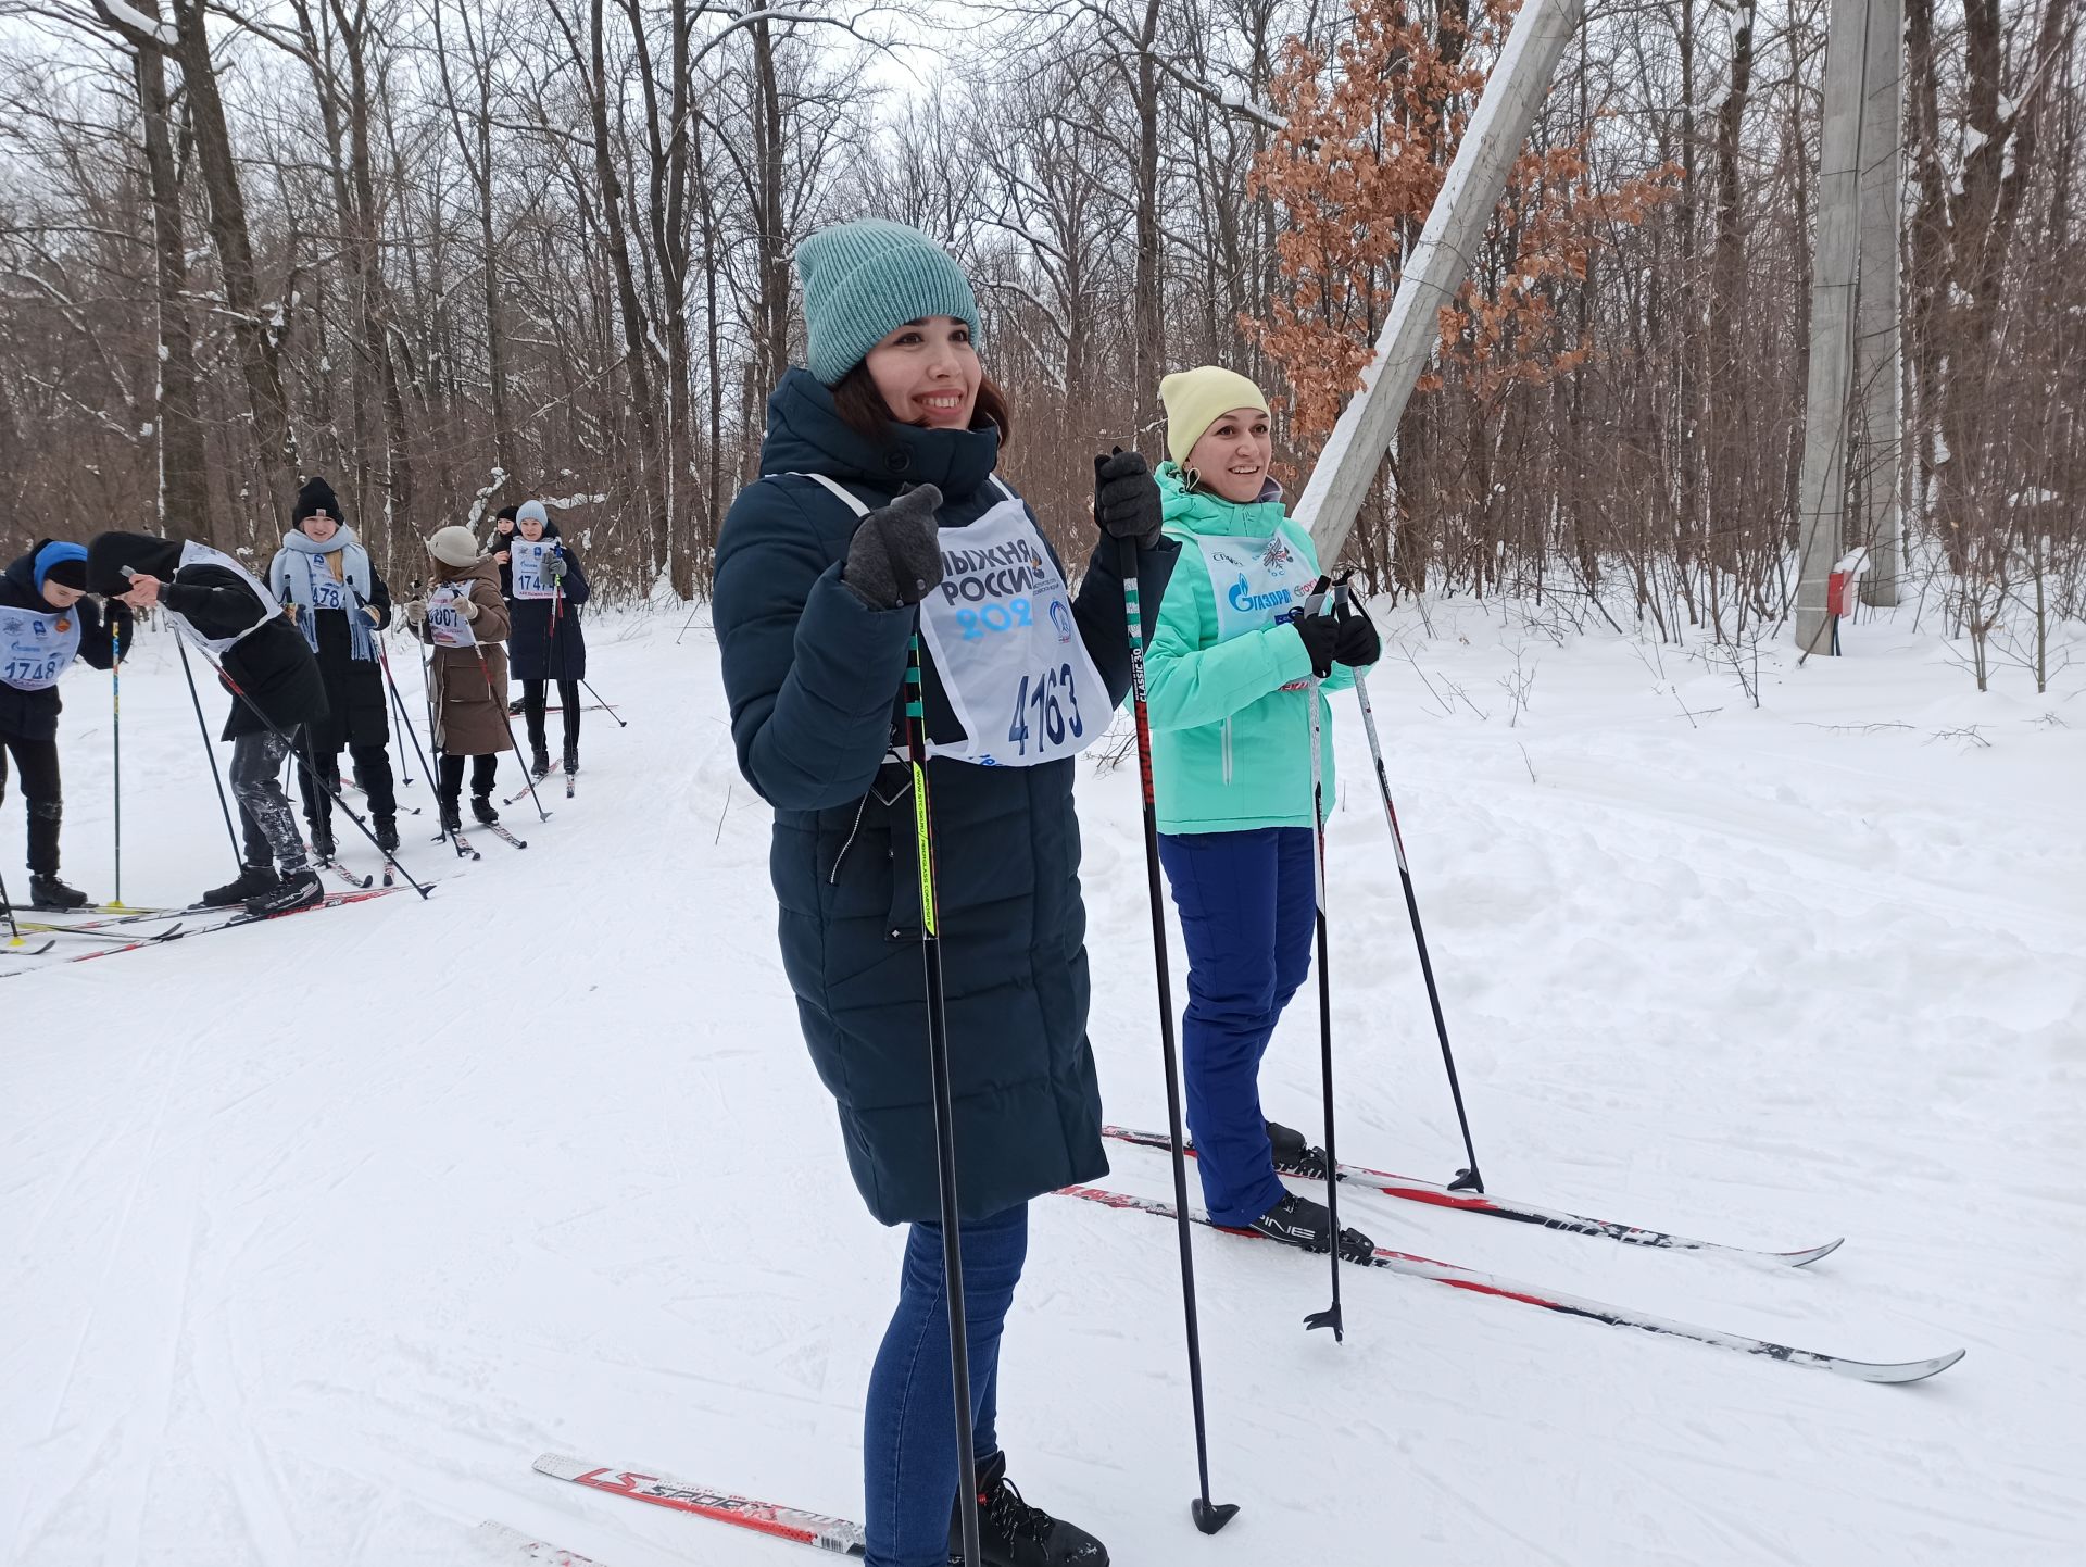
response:
M857 517L870 507L824 474L805 474ZM1108 686L1072 620L1072 590L1028 520L1005 497L968 528L941 530L941 584L920 605L920 634L964 739L932 755L980 768L1033 768L1078 755L1108 728Z

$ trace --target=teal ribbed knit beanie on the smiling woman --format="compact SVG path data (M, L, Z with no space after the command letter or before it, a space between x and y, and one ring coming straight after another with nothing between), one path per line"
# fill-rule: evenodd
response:
M820 230L797 246L797 275L811 338L805 369L826 386L907 321L953 315L978 340L978 300L964 269L903 223L864 217Z

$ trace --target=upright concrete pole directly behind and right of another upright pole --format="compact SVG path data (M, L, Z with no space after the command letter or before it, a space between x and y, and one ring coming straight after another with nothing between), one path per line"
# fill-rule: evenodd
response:
M1905 219L1905 0L1869 0L1867 92L1861 100L1861 534L1869 574L1861 601L1894 605L1902 572L1905 378L1898 357L1898 234Z

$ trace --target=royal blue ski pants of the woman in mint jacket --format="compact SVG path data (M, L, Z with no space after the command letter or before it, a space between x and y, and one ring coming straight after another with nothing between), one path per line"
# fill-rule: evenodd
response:
M1283 1200L1260 1112L1260 1058L1310 972L1312 830L1160 835L1187 941L1181 1058L1210 1219L1247 1225Z

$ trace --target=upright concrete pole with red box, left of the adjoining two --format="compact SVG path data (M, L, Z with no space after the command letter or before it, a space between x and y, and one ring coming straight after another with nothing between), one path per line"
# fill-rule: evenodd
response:
M1867 10L1865 0L1832 0L1825 33L1825 134L1819 144L1819 225L1811 255L1811 384L1804 392L1804 463L1796 486L1796 645L1806 653L1832 651L1825 586L1846 549L1846 394L1854 348Z

